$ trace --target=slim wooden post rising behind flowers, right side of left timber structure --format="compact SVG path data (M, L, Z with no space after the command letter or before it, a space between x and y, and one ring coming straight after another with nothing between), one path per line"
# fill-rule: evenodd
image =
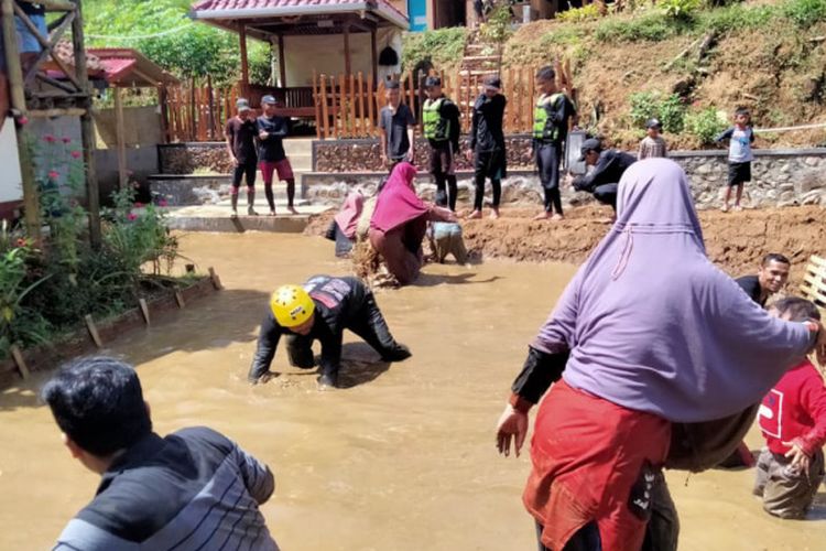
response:
M89 212L89 241L97 248L100 246L100 192L98 176L95 171L95 125L91 120L91 97L89 93L89 75L86 73L86 44L84 43L84 18L80 0L75 0L77 15L72 22L72 46L75 52L75 71L77 80L84 94L83 101L86 109L80 116L80 137L84 147L84 163L86 163L86 208Z

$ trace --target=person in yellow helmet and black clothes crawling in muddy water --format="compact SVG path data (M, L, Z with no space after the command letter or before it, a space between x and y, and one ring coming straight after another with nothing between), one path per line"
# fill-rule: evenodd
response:
M401 361L411 355L390 334L372 291L361 280L314 276L304 287L282 285L272 293L248 380L265 382L273 375L270 365L281 336L286 335L290 365L301 369L315 367L313 342L322 343L318 385L335 387L344 329L361 337L384 361Z

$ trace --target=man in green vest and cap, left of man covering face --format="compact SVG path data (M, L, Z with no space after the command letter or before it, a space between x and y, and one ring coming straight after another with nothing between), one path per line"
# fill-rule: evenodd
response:
M428 76L427 100L422 110L424 137L431 145L431 174L436 183L436 204L456 212L454 152L459 150L459 108L442 94L442 79Z

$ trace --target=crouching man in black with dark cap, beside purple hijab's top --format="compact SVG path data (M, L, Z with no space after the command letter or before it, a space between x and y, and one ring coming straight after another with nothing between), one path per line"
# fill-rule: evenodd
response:
M584 176L574 180L574 188L577 192L594 194L594 198L604 205L611 205L617 212L617 187L626 169L637 162L637 158L608 149L602 151L602 144L596 138L588 138L579 149L579 162L585 161L594 169Z

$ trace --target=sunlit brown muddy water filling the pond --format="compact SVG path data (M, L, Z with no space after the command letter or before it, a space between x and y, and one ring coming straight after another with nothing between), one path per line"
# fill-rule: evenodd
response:
M274 235L191 235L184 252L215 266L227 289L107 350L139 367L155 428L205 424L273 468L263 506L290 550L533 550L520 496L529 460L500 458L493 426L525 346L573 273L568 266L430 266L420 283L378 302L407 361L376 366L346 337L343 380L315 390L283 350L265 386L244 378L268 293L313 273L345 273L332 245ZM46 549L93 496L97 477L73 461L33 389L0 393L0 549ZM760 436L750 434L758 446ZM751 497L753 471L669 473L681 549L820 550L816 520L780 521Z

